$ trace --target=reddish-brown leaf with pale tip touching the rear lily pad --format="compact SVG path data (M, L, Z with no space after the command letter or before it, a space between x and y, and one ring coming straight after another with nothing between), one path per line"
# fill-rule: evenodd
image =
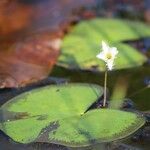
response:
M59 55L60 38L47 34L0 49L0 87L18 87L45 78Z

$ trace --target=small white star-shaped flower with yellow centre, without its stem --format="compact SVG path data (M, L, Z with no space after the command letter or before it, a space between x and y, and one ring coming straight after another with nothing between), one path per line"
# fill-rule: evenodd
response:
M116 47L109 47L104 41L102 41L102 52L96 57L106 62L108 70L112 70L114 66L114 59L118 54Z

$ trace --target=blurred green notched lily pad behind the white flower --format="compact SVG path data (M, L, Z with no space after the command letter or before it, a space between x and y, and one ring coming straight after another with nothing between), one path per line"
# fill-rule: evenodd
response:
M121 42L148 36L150 28L139 22L119 19L82 21L64 38L57 65L69 69L104 71L104 62L96 58L100 51L100 41L104 40L119 50L115 69L137 67L146 62L147 58Z

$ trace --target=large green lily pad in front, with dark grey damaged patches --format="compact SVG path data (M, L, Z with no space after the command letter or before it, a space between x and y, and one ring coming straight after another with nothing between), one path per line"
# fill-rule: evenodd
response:
M0 129L20 143L80 147L126 137L145 120L130 112L88 108L102 96L93 84L51 85L21 94L0 108Z

